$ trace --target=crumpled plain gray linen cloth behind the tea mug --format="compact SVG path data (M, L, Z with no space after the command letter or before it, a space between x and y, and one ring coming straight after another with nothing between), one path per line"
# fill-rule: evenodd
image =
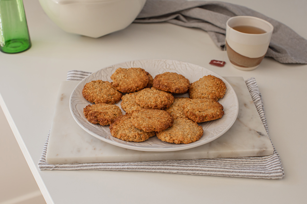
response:
M274 26L266 57L280 63L307 64L307 40L291 28L252 9L216 1L147 0L134 23L168 22L200 28L221 49L225 46L226 21L233 16L254 16Z

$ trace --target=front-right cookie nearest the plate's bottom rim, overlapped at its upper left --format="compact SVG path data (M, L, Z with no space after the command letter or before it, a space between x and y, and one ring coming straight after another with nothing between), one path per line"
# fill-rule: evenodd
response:
M164 142L188 144L199 140L203 133L203 128L197 123L187 118L177 118L170 128L156 134Z

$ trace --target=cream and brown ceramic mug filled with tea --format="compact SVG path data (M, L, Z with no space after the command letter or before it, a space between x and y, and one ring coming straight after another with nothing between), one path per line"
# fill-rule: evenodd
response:
M231 64L240 70L258 67L269 47L273 25L252 16L235 16L226 23L226 49Z

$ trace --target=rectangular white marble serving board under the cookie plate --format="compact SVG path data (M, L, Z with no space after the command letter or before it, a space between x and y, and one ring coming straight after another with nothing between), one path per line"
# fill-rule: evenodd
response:
M49 164L71 164L231 158L273 154L272 143L243 78L224 78L234 88L239 99L239 115L233 126L210 143L187 150L167 152L125 149L88 134L76 123L69 110L69 97L79 81L62 82L50 130L46 161Z

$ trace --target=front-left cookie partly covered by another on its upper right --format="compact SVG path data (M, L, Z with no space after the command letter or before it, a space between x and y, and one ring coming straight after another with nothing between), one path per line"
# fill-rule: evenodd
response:
M143 142L155 135L155 132L140 130L131 122L131 115L121 115L110 125L110 132L113 137L124 141Z

